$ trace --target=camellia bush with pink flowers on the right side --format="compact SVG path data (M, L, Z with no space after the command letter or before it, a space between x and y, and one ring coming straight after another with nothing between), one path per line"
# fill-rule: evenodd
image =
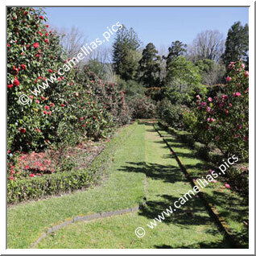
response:
M184 113L185 126L200 142L213 142L225 155L248 159L249 72L242 61L231 62L224 93L207 99L196 96L192 111Z

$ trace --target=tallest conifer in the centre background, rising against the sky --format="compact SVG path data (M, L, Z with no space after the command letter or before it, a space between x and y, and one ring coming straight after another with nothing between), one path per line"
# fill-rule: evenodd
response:
M131 27L128 30L122 25L118 30L113 44L114 71L122 79L134 79L137 74L140 41L138 35Z

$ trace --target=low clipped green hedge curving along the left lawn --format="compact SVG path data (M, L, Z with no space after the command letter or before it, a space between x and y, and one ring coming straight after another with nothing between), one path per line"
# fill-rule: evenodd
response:
M7 183L7 203L35 200L46 196L56 196L63 192L72 192L89 188L101 182L109 169L118 146L132 134L138 122L127 126L105 145L105 149L85 170L57 172L51 175L35 176L23 180L10 180Z

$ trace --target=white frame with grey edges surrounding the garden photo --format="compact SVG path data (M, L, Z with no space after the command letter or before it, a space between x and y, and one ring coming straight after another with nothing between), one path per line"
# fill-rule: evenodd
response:
M12 0L4 1L1 3L1 35L6 35L6 6L105 6L103 0L97 0L97 2L84 2L82 0L73 0L72 2L63 1L40 1L35 2L31 0ZM93 3L93 4L92 4ZM0 253L1 254L254 254L254 1L227 1L227 0L216 0L216 1L188 1L180 0L175 1L158 1L152 0L130 0L119 2L117 0L109 0L108 6L250 6L249 7L249 42L250 42L250 238L249 238L249 249L6 249L6 209L1 211L1 232L0 232ZM41 5L40 5L41 4ZM2 49L2 65L1 73L2 77L6 77L6 41L1 42ZM3 50L5 49L5 50ZM5 51L3 53L3 51ZM6 84L6 82L5 82ZM6 86L1 86L2 101L0 101L1 108L6 109ZM6 120L5 116L2 117ZM6 206L6 130L2 125L1 129L1 193L0 193L0 205L2 209Z

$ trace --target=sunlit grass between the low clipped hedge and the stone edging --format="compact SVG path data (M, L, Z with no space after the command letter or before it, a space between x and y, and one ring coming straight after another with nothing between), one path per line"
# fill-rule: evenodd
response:
M47 227L77 215L126 209L141 203L145 174L120 171L119 167L132 167L131 163L144 161L144 126L137 126L126 143L120 146L109 170L108 180L100 187L9 208L7 248L29 248ZM127 161L131 163L127 164Z

